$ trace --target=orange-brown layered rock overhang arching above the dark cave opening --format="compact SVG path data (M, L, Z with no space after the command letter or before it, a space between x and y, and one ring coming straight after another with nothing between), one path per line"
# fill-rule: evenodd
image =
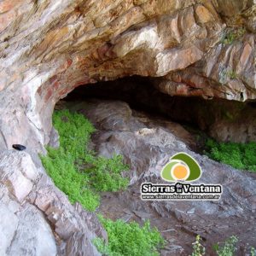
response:
M3 148L43 150L55 102L100 80L137 74L170 95L255 98L251 0L5 0L0 14Z

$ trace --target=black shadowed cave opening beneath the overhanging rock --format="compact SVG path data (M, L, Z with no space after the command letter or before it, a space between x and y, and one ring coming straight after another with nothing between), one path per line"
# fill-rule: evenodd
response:
M170 96L154 86L156 79L131 76L85 84L69 93L64 100L126 102L133 110L177 122L202 137L213 137L222 142L256 141L256 109L252 102Z

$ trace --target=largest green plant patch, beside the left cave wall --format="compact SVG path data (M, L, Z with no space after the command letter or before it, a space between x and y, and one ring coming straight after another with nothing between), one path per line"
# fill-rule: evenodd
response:
M100 202L101 191L125 189L128 180L121 176L127 170L120 155L112 159L96 156L88 149L93 125L82 114L68 110L53 115L55 129L59 131L60 148L47 148L47 156L41 155L44 168L71 203L79 203L94 211Z

